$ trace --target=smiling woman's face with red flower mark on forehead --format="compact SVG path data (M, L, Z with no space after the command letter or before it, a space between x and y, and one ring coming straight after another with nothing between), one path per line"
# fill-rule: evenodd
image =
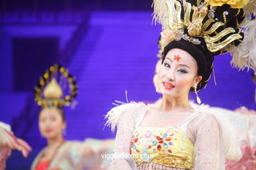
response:
M196 60L188 52L169 50L160 68L160 92L172 97L187 96L190 88L202 80L197 72Z

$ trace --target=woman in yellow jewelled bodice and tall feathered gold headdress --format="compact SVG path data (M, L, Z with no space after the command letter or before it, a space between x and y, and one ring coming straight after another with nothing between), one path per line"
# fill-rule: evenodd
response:
M224 169L225 158L240 160L241 150L228 120L193 109L188 92L197 95L213 71L213 56L230 46L235 66L256 68L255 58L249 56L253 53L247 53L247 33L239 28L251 11L247 3L154 1L165 46L158 78L163 98L160 107L129 103L108 112L107 124L113 130L117 126L112 169Z

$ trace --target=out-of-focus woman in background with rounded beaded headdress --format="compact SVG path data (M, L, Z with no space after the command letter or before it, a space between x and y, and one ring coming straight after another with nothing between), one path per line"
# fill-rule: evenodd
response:
M66 86L63 82L69 82L69 90L66 91L70 94L65 97L62 97L64 89L62 90L56 80L58 77L63 86ZM60 65L51 66L40 78L35 87L35 100L43 107L39 113L39 130L47 139L47 146L33 161L33 170L98 169L99 165L93 159L95 153L91 147L78 141L66 141L63 137L66 120L62 107L70 105L76 94L74 78Z

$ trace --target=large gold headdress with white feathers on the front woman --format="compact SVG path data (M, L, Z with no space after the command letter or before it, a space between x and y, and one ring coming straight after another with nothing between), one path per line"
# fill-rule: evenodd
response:
M255 0L154 0L163 46L184 39L212 56L232 52L234 67L256 71Z

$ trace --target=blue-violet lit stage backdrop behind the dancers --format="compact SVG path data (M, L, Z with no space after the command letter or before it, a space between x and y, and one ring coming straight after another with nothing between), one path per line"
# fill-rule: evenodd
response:
M152 78L158 58L160 25L152 25L152 12L90 12L10 16L1 26L0 120L33 147L28 159L14 151L7 169L28 169L45 146L38 130L39 107L33 86L45 69L59 62L68 67L79 84L74 109L66 108L66 139L114 138L104 129L104 115L114 100L154 102ZM52 19L51 19L52 18ZM57 18L57 19L56 19ZM198 95L202 103L234 110L255 109L252 71L230 67L230 55L216 56L213 75ZM190 95L195 99L195 94ZM17 163L18 162L18 163Z

